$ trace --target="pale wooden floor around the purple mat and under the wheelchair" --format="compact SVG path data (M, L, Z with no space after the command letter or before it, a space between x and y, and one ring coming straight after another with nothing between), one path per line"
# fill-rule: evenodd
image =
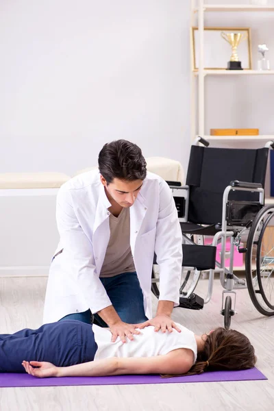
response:
M41 325L46 277L0 278L1 333ZM205 296L206 279L197 294ZM176 308L173 318L195 333L223 325L221 286L215 280L212 300L202 311ZM155 304L154 304L155 306ZM274 410L274 317L253 308L247 290L238 290L232 328L247 334L268 381L129 386L1 388L1 411L208 411Z

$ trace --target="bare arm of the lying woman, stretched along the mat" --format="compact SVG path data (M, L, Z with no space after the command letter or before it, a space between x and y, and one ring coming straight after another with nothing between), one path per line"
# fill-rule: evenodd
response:
M193 364L193 353L190 349L176 349L165 356L154 356L145 358L106 358L84 362L66 367L55 367L54 371L49 371L49 363L32 362L32 368L28 364L25 367L27 373L36 377L102 377L105 375L124 374L184 374L190 370ZM45 371L44 364L47 364Z

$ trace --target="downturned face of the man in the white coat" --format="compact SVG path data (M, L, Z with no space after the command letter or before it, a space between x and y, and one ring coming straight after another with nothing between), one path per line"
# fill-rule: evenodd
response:
M105 186L105 191L110 201L114 199L119 206L129 208L134 204L143 182L141 179L127 182L126 180L114 178L112 183L107 185L107 182L101 176L101 183Z

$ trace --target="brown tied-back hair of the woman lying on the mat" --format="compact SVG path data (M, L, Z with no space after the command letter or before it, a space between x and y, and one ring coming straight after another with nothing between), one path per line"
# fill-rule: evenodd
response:
M214 329L207 337L203 351L186 374L195 375L205 371L245 370L256 364L254 348L249 339L234 329ZM178 375L162 375L162 377Z

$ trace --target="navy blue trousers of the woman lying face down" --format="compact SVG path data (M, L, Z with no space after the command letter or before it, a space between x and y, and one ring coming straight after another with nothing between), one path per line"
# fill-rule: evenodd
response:
M0 373L25 373L22 361L69 366L92 361L97 343L90 325L79 321L44 324L0 334Z

